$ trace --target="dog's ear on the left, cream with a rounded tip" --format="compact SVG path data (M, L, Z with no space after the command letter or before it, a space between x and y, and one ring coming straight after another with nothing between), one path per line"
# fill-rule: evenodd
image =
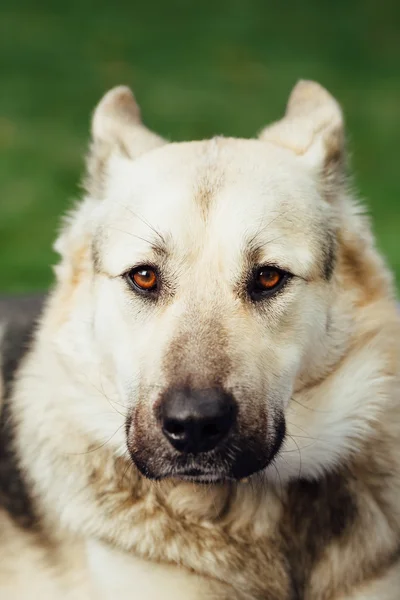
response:
M126 86L111 89L93 113L92 142L84 180L86 190L92 197L103 197L109 161L113 155L133 160L164 144L165 140L143 125L131 90Z

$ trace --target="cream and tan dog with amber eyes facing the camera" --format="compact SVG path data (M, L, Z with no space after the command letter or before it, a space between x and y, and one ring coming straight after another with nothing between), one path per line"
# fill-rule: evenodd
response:
M117 87L84 184L3 306L0 598L397 600L400 320L337 101L167 143Z

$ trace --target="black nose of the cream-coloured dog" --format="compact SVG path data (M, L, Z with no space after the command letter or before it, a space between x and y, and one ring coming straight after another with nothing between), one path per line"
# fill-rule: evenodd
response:
M227 436L236 418L233 397L220 389L174 389L160 406L165 437L179 452L208 452Z

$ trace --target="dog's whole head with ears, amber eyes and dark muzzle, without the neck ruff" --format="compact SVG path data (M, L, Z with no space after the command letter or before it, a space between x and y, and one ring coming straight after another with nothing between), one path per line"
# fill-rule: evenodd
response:
M127 88L97 107L89 195L57 246L62 343L101 370L146 476L264 469L293 395L342 355L343 137L338 104L312 82L258 140L167 143Z

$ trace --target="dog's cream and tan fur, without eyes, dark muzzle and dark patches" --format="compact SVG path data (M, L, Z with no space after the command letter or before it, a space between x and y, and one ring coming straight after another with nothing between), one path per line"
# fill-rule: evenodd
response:
M62 553L75 552L72 535L88 556L88 591L76 597L292 600L280 537L287 490L343 469L359 520L346 545L321 550L304 600L396 600L400 325L391 276L345 183L337 102L300 82L258 140L167 144L116 88L94 113L88 162L88 194L56 242L57 283L12 399L45 528ZM176 288L148 309L122 275L156 260L154 231L170 244ZM251 239L261 264L295 275L263 309L233 292ZM178 334L199 377L211 369L210 339L224 347L224 384L249 423L268 414L266 440L286 416L283 448L247 483L151 483L130 464L126 416L150 411L171 384L164 364ZM8 555L0 547L2 564ZM1 573L1 593L26 577L22 565Z

